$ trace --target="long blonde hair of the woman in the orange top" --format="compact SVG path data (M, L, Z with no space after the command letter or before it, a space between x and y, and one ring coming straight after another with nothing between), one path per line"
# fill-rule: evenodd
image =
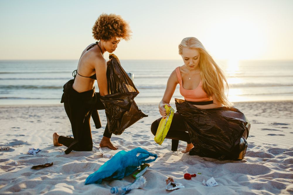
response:
M207 96L210 97L214 94L220 103L230 108L233 104L228 100L226 95L229 90L228 82L223 71L212 56L207 53L205 47L195 37L186 37L182 39L178 46L180 55L182 55L182 49L184 47L188 49L198 49L200 53L200 77L202 79L202 89L207 93Z

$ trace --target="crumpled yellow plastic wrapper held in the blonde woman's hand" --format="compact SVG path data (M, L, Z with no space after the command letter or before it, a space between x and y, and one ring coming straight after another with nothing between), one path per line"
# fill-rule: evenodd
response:
M167 116L166 118L162 118L160 123L159 123L159 127L157 129L156 132L156 136L154 138L154 140L156 141L156 143L158 144L162 144L171 125L172 119L173 119L173 115L174 115L174 109L172 107L167 106L167 104L164 107L166 109L166 113Z

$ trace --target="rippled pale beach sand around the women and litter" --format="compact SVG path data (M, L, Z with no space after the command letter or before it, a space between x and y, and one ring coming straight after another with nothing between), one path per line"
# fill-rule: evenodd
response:
M112 136L117 151L103 148L115 155L120 150L136 147L156 153L144 177L143 189L129 194L169 194L165 190L168 177L185 188L172 194L293 194L293 101L236 103L251 122L246 157L242 161L223 161L189 156L181 151L186 143L180 141L178 151L171 151L171 140L160 146L150 132L151 123L159 118L157 105L140 105L149 115L139 120L120 135ZM175 106L173 106L175 107ZM98 170L109 159L98 150L106 124L104 111L99 111L103 127L92 124L94 150L72 151L64 154L65 146L55 147L52 134L72 135L71 125L62 104L60 106L2 106L0 108L0 194L110 194L110 188L134 181L131 176L102 184L84 185L88 175ZM40 148L36 155L29 148ZM16 163L17 162L17 165ZM33 165L53 162L39 170ZM197 174L200 172L201 174ZM185 180L184 173L194 174ZM210 177L219 184L206 187L203 180Z

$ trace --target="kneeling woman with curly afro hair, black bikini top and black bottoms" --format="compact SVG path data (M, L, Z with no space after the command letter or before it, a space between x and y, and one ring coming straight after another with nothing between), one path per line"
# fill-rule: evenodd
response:
M92 28L93 37L98 40L84 49L79 59L74 79L64 85L61 103L71 122L74 138L53 134L54 146L67 146L65 153L75 151L91 151L90 118L99 98L97 95L108 95L107 62L103 54L113 53L121 39L129 40L131 30L128 23L115 14L101 14ZM94 83L97 80L99 92L95 93ZM100 147L117 148L110 141L112 133L106 126Z

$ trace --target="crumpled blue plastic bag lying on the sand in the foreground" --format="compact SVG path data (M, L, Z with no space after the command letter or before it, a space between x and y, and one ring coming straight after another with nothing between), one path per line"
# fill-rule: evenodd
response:
M137 156L138 153L140 153L139 156ZM150 156L154 159L145 160ZM139 147L128 152L122 150L105 162L96 172L89 175L85 184L100 184L102 180L120 180L132 174L141 164L151 163L157 157L156 154L149 153Z

